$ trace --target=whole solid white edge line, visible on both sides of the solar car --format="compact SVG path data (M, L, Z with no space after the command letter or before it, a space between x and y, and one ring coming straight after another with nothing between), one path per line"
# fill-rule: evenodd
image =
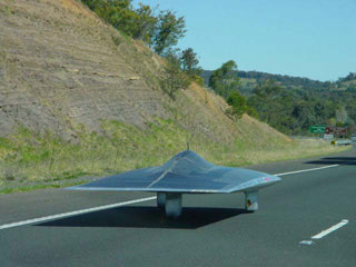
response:
M300 172L306 172L306 171L313 171L313 170L319 170L319 169L326 169L326 168L337 167L337 166L338 166L338 165L329 165L329 166L324 166L324 167L319 167L319 168L313 168L313 169L305 169L305 170L296 170L296 171L289 171L289 172L284 172L284 174L277 174L277 175L274 175L274 176L294 175L294 174L300 174ZM73 216L73 215L80 215L80 214L99 211L99 210L109 209L109 208L115 208L115 207L121 207L121 206L130 205L130 204L149 201L149 200L154 200L154 199L156 199L156 198L157 198L157 197L148 197L148 198L134 199L134 200L125 201L125 202L105 205L105 206L95 207L95 208L80 209L80 210L76 210L76 211L71 211L71 212L65 212L65 214L59 214L59 215L46 216L46 217L41 217L41 218L22 220L22 221L19 221L19 222L12 222L12 224L2 225L2 226L0 226L0 230L2 230L2 229L8 229L8 228L12 228L12 227L17 227L17 226L24 226L24 225L31 225L31 224L42 222L42 221L46 221L46 220L60 219L60 218L65 218L65 217L68 217L68 216Z

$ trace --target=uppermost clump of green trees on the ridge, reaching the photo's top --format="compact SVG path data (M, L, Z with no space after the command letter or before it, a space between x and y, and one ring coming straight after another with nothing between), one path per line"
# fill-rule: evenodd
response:
M106 22L129 37L145 41L159 55L176 46L186 32L185 18L178 18L170 10L156 14L156 8L142 3L135 9L132 0L81 1Z

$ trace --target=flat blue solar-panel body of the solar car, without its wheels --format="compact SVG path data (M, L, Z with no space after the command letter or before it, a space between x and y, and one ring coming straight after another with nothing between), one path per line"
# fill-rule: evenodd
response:
M131 170L69 189L233 192L278 180L278 177L254 170L216 166L186 150L162 166Z

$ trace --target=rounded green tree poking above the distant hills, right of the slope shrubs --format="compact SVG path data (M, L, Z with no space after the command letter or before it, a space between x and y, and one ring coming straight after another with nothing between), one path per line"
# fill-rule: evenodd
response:
M212 71L209 79L209 87L225 99L229 97L231 91L237 91L238 86L237 65L234 60L225 62L221 68Z

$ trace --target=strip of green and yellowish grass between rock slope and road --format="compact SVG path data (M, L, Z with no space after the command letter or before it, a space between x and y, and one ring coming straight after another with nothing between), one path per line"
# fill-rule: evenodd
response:
M270 137L263 142L241 137L234 144L212 142L191 136L172 120L157 119L145 129L103 121L103 132L82 128L76 142L51 132L20 128L0 138L0 194L59 188L90 181L93 177L160 165L190 149L207 160L226 166L246 166L342 151L320 140L286 140Z

